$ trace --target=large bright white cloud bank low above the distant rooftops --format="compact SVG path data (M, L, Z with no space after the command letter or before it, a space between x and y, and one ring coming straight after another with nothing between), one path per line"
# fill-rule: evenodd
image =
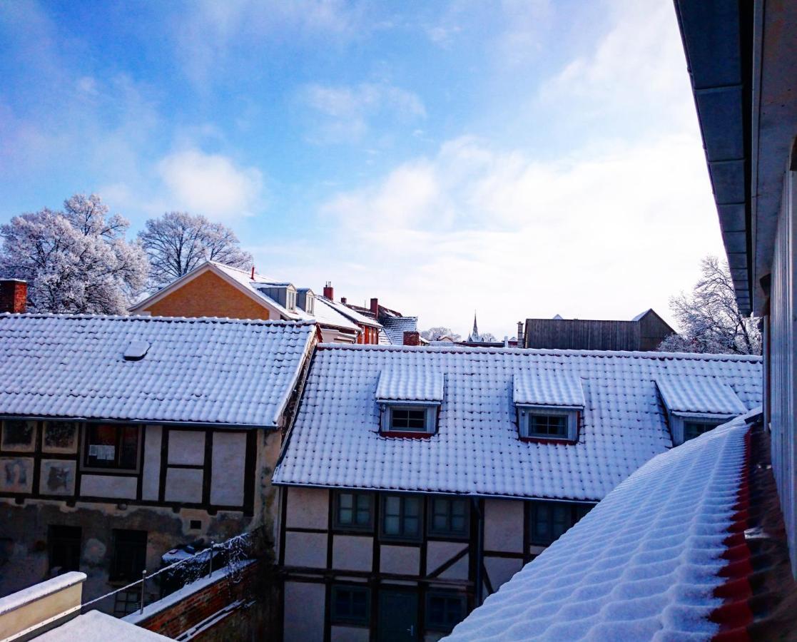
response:
M496 335L534 315L667 315L721 252L706 187L689 136L548 163L457 139L328 202L324 267L339 266L341 294L383 297L424 327L464 331L474 307Z

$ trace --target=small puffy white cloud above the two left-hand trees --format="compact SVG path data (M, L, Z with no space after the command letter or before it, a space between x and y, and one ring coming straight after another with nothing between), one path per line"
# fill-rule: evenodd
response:
M215 220L245 217L263 208L263 176L227 156L190 149L168 155L158 164L167 188L163 209L187 209Z

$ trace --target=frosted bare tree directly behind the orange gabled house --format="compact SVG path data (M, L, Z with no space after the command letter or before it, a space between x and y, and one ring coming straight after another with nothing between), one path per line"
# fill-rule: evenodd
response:
M150 287L163 288L206 260L249 268L252 255L240 247L232 229L187 212L151 218L139 232L150 260Z

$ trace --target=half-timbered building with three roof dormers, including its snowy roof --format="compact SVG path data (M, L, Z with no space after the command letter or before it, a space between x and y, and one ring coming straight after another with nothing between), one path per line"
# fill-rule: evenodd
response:
M436 640L760 401L758 357L321 345L273 476L284 639Z

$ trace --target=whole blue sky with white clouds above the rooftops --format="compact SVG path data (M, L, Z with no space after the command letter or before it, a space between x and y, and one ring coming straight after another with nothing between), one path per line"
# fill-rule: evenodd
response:
M257 269L513 334L722 252L669 2L0 0L0 221L96 192Z

